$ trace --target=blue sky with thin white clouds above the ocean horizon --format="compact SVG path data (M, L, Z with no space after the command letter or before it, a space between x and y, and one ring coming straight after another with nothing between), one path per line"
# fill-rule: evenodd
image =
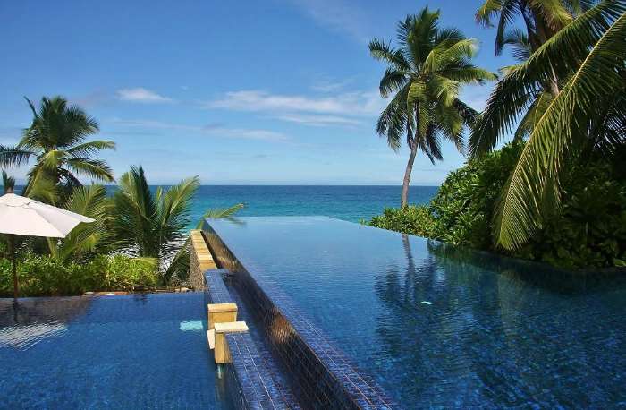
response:
M401 184L408 149L376 134L385 65L368 41L428 5L441 25L477 38L476 64L496 72L495 30L482 2L353 0L22 0L0 3L0 144L19 141L24 96L62 95L94 116L94 139L120 176L142 165L151 184ZM491 84L463 90L481 109ZM419 155L412 184L440 184L463 163ZM25 167L11 173L23 181Z

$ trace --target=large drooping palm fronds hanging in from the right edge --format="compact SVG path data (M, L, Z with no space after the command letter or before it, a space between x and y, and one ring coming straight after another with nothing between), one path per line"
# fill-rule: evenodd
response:
M478 155L509 132L527 96L556 73L563 87L537 115L495 214L495 242L526 243L561 204L572 164L626 146L626 0L605 0L582 13L499 81L470 141ZM567 51L564 51L567 50ZM480 141L492 141L491 144Z

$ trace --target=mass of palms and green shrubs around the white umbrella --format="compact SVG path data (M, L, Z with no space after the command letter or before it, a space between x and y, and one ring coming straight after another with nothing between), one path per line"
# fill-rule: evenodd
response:
M131 167L113 195L103 185L80 184L79 177L114 181L106 162L93 156L114 149L112 141L86 141L97 122L61 97L42 98L15 147L0 146L4 192L15 179L5 168L34 159L22 194L93 218L63 239L21 237L21 295L75 295L86 290L133 290L166 286L189 272L185 237L197 177L168 189L151 189L142 167ZM229 218L243 207L209 209L205 217ZM5 238L0 255L6 256ZM2 263L5 263L3 261ZM0 264L0 294L8 295L12 280ZM7 287L8 286L8 287ZM6 289L4 289L6 287ZM11 287L12 288L12 287ZM12 288L13 289L13 288Z

